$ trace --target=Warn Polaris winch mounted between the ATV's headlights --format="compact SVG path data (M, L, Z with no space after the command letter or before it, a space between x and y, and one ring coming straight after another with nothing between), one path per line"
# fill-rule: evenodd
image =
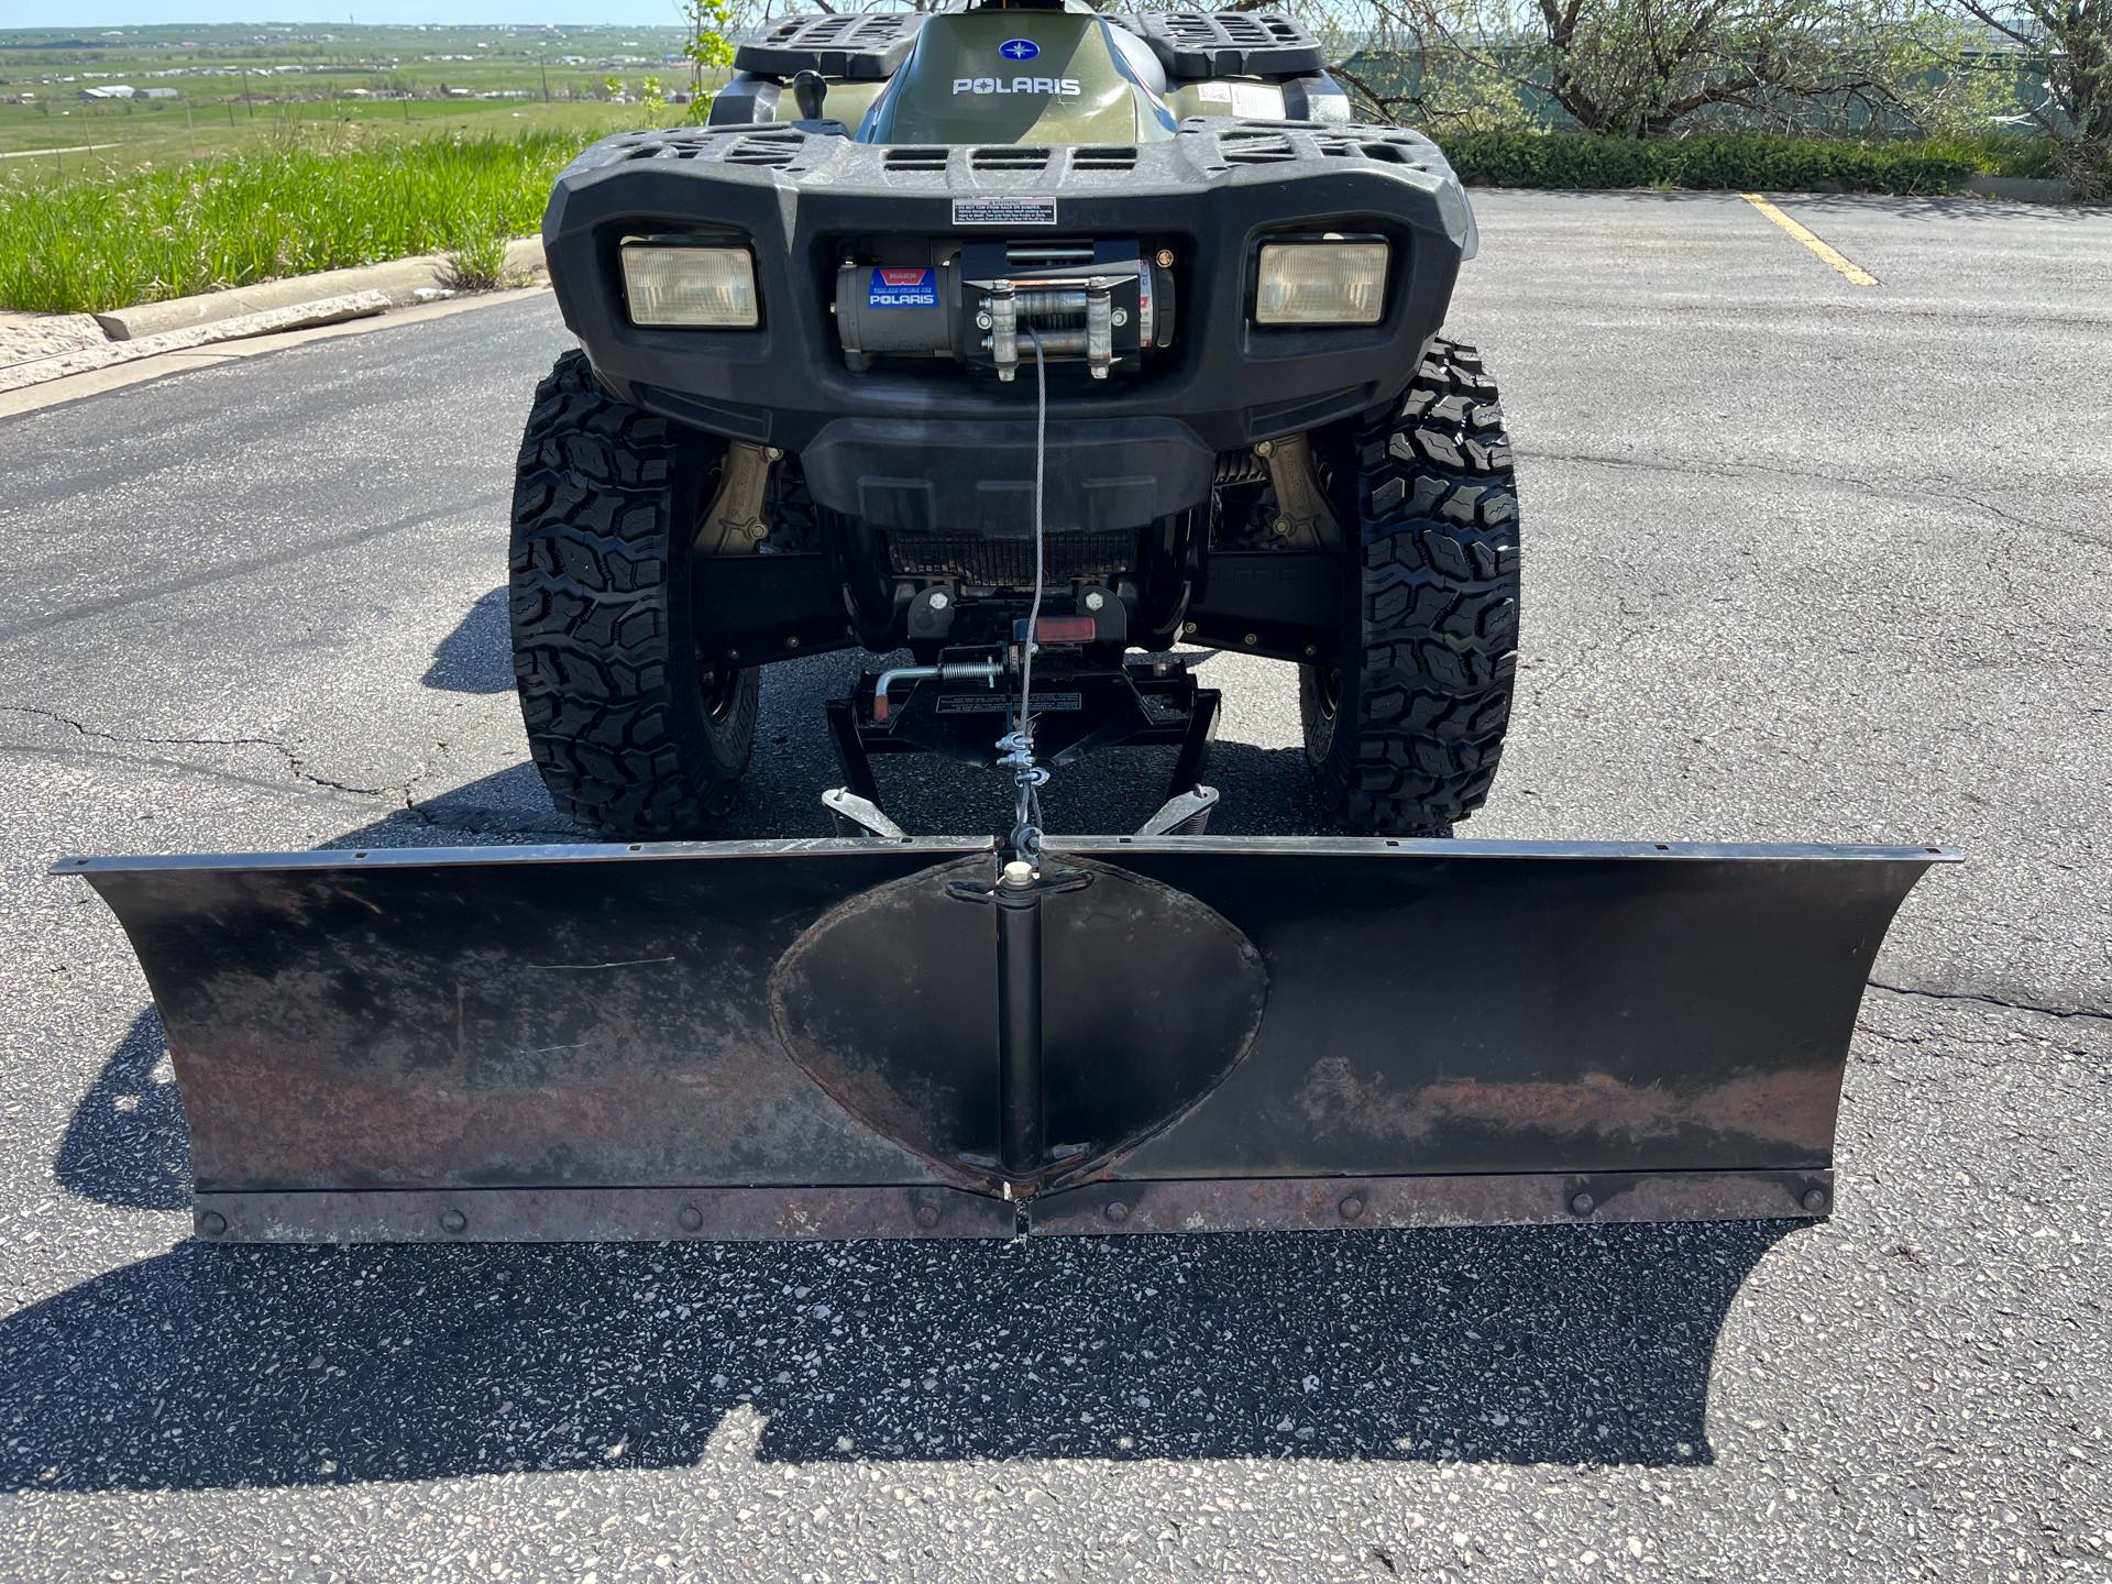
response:
M887 251L891 260L845 258L836 268L836 332L853 372L874 357L953 357L1012 380L1039 346L1105 380L1145 348L1172 344L1170 249L1147 258L1134 239L934 239L917 249L923 258L900 243Z

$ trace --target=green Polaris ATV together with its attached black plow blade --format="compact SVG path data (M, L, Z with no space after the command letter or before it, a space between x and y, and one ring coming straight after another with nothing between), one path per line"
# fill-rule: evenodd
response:
M220 1242L1823 1217L1941 847L1415 841L1489 792L1510 448L1474 222L1255 13L811 17L543 224L536 765L617 843L63 857L154 986ZM838 838L731 813L760 667L862 646ZM906 653L904 653L906 650ZM1212 836L1195 657L1301 672L1362 836ZM1132 834L1079 754L1176 748ZM906 834L872 756L1010 773ZM1502 942L1445 972L1404 942Z

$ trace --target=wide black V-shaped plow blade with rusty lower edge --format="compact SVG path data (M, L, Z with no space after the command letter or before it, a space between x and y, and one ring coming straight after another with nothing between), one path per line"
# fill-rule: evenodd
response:
M203 1236L473 1242L1825 1214L1863 982L1951 857L1096 836L1024 900L950 838L55 872L146 969Z

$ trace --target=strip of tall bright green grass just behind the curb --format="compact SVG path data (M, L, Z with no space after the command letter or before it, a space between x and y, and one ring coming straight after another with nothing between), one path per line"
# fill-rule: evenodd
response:
M95 313L532 232L579 133L319 146L65 186L0 184L0 308Z

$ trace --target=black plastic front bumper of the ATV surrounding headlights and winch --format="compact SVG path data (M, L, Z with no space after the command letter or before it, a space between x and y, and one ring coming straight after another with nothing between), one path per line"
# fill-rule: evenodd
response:
M1043 226L980 213L1052 215ZM756 329L629 323L625 234L718 230L754 247ZM1392 243L1385 317L1257 327L1265 234L1358 230ZM1426 137L1394 127L1189 120L1121 148L853 142L836 122L606 137L558 177L543 241L566 323L625 399L805 458L819 505L887 530L1018 534L1033 490L1033 380L942 361L851 372L830 319L853 243L887 237L1136 237L1172 249L1170 348L1113 380L1050 367L1050 528L1134 528L1208 496L1221 452L1385 401L1409 380L1472 251L1466 192Z

